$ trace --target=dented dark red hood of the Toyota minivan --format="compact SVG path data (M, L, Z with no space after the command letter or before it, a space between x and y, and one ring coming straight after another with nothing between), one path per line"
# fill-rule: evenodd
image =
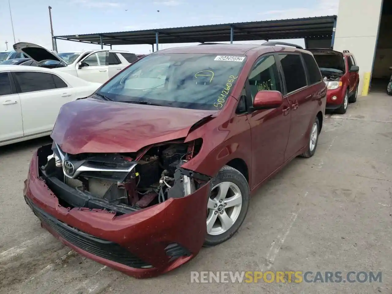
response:
M62 106L51 137L71 154L136 152L186 137L194 123L215 112L87 98Z

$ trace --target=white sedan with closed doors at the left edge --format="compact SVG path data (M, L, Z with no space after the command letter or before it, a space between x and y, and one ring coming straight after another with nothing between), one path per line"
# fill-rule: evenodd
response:
M47 136L60 107L93 94L100 83L25 65L0 67L0 146Z

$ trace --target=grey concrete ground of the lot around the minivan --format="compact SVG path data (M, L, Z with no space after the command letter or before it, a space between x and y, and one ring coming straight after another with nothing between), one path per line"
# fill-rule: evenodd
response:
M359 97L328 115L315 156L264 185L231 240L152 279L85 259L40 227L22 187L46 142L0 148L0 293L392 293L392 97ZM191 271L268 269L382 271L382 282L190 283Z

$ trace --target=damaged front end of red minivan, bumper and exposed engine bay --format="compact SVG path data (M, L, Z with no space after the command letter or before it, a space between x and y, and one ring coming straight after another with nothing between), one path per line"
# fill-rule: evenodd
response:
M176 140L128 154L67 154L46 145L31 160L25 201L76 252L130 276L156 276L191 260L205 240L211 178L181 167L201 143Z

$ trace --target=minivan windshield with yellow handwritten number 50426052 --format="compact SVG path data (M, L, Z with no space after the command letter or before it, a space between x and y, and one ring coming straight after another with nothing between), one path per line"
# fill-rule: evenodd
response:
M238 79L245 56L152 54L97 93L106 100L220 110Z

